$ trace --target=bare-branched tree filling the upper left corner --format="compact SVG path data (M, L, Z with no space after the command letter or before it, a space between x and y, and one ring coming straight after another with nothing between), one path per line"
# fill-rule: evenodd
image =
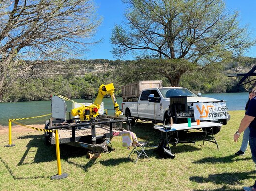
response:
M0 1L0 99L32 60L72 57L96 43L100 22L92 0Z

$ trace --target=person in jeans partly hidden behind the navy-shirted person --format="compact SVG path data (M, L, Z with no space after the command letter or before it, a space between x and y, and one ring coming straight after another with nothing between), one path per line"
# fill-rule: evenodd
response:
M256 96L256 91L253 91L253 90L249 91L249 98L248 98L248 101L245 106L245 111L248 108L249 101L251 99L253 99L255 96ZM244 153L247 149L247 146L248 146L248 142L249 142L249 133L250 133L250 128L246 128L243 132L243 141L242 141L240 150L238 152L236 152L235 155L244 155Z

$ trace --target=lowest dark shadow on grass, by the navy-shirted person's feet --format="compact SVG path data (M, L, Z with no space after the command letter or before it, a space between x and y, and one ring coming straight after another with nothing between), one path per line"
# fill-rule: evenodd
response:
M255 178L255 176L252 176L251 174L255 174L254 171L250 172L234 172L234 173L219 173L219 174L213 174L209 175L208 178L203 178L199 176L192 176L189 179L193 182L197 183L207 183L212 182L214 184L228 184L228 185L234 185L240 182L241 180L247 180L250 178Z

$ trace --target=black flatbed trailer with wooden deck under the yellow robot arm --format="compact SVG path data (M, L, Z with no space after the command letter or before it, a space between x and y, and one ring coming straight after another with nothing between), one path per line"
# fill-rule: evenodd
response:
M99 118L80 122L75 120L50 120L45 129L58 129L59 143L82 147L92 152L108 152L108 143L114 136L119 135L120 125L126 123L130 129L131 117L116 118L100 115ZM45 132L47 145L55 145L55 133Z

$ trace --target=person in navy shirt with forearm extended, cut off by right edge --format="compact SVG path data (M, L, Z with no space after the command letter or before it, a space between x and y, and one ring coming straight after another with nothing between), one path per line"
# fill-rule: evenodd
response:
M248 103L248 108L245 112L243 119L241 120L238 131L234 134L234 141L238 142L240 134L247 128L250 128L249 133L249 145L251 148L252 159L256 164L256 97L254 97ZM253 186L243 187L244 191L256 191L256 180Z

